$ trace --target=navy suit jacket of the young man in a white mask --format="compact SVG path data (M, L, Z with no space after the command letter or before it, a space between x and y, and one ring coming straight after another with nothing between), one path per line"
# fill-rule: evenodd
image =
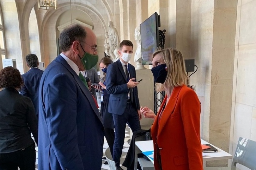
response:
M128 69L130 78L135 78L136 72L133 65L128 63ZM122 115L127 105L128 92L127 77L124 73L123 66L120 60L110 64L108 66L108 74L106 74L106 91L110 94L109 96L109 113L116 115ZM138 97L137 86L133 89L133 105L137 110L140 110L140 103Z

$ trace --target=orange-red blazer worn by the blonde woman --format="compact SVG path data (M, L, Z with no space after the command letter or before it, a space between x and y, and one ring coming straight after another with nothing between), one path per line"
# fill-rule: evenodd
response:
M174 87L163 110L166 99L167 96L151 128L155 169L160 170L157 159L160 153L163 170L203 170L201 107L196 93L185 85Z

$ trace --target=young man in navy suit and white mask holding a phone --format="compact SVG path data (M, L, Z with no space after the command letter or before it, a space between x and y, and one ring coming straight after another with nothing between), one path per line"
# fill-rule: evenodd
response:
M129 64L133 53L133 43L123 40L119 45L120 59L108 66L106 75L106 91L109 97L109 113L112 113L115 123L115 142L113 147L113 160L118 170L120 157L124 144L126 123L132 131L141 129L140 103L138 97L139 84L136 82L136 72L133 65Z

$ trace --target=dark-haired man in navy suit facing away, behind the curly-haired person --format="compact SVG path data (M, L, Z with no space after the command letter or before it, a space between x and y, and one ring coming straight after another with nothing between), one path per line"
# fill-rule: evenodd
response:
M39 62L36 54L28 54L26 56L26 65L30 69L25 74L22 74L24 85L20 89L20 94L32 100L38 119L38 91L43 71L38 68Z

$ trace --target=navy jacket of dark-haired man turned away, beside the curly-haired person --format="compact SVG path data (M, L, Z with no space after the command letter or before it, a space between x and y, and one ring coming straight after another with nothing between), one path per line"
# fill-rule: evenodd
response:
M20 94L29 97L35 107L36 115L38 115L38 91L43 71L39 68L31 68L25 74L22 74L24 85L20 90Z

